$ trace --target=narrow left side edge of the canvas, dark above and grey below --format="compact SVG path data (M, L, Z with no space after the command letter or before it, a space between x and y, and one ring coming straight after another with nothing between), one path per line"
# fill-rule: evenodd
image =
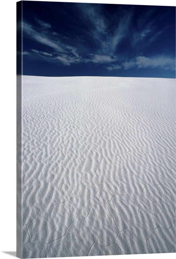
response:
M22 1L17 2L17 257L21 258L21 17Z

